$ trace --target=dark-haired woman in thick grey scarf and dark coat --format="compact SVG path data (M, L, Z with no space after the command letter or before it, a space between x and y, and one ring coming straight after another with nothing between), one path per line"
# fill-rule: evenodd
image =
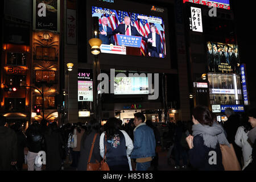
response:
M224 171L220 144L229 146L224 129L214 122L213 114L205 106L193 110L192 135L186 140L189 146L189 162L200 171Z

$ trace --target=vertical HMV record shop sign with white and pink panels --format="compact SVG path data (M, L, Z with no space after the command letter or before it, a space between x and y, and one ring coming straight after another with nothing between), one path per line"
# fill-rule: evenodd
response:
M78 101L93 102L93 73L89 69L78 69Z

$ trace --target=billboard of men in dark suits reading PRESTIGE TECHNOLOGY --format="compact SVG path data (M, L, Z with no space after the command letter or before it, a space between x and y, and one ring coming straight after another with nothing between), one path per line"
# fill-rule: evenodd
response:
M239 73L238 46L234 44L207 42L208 72Z

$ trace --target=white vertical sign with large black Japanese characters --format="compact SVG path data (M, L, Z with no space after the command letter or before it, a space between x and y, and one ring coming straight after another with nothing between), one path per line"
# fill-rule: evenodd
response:
M191 29L195 32L203 32L201 9L191 7Z

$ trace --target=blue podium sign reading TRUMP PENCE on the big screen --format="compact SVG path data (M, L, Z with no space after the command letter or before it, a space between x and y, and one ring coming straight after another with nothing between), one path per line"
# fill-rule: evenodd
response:
M141 48L141 36L131 36L131 35L122 35L117 34L118 46L128 46L128 47L138 47Z

